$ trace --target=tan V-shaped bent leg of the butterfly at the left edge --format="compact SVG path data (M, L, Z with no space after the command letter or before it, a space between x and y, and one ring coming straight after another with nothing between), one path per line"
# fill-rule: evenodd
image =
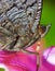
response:
M2 46L2 48L0 48L0 50L4 49L5 47L9 46L9 44L11 44L14 39L13 34L11 32L9 32L8 29L3 28L2 26L0 26L0 34L3 34L3 38L5 37L6 43ZM1 36L2 37L2 36Z

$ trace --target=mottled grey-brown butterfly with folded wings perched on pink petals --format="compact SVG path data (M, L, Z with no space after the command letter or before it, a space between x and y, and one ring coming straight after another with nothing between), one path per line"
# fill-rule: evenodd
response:
M40 24L42 3L42 0L0 1L0 50L27 51L49 32L50 24Z

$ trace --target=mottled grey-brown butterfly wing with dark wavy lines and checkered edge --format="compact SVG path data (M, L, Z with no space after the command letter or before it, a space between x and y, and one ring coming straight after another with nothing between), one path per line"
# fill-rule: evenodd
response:
M42 0L1 0L0 32L13 38L15 35L18 35L18 44L22 38L26 36L24 40L26 42L28 38L28 45L35 36L39 36L36 29L38 31L37 25L40 23L41 9ZM13 38L11 40L13 40ZM20 42L20 44L23 44L23 42ZM26 44L24 43L23 46L26 47ZM19 45L19 47L23 46Z

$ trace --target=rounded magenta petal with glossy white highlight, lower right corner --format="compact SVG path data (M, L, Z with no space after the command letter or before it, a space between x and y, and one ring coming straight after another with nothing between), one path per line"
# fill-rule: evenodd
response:
M49 71L55 71L55 46L43 52L42 63Z

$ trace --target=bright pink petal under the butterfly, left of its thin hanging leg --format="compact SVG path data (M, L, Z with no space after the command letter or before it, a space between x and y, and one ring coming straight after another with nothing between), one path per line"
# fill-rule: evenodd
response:
M1 63L4 64L9 71L37 71L37 57L20 51L0 51L0 64Z

